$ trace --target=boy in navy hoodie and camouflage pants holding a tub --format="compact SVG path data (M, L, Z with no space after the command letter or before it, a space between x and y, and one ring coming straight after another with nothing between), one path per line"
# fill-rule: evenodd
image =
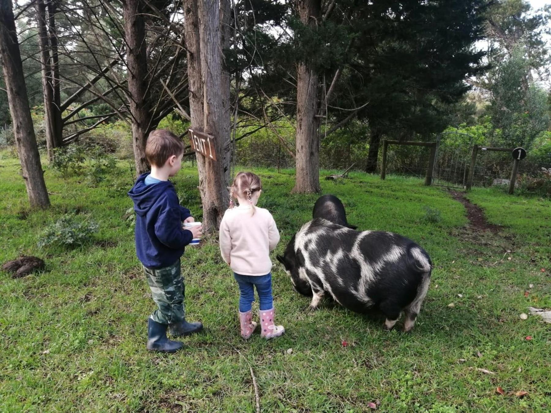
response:
M188 323L183 297L185 285L180 257L193 238L201 236L201 226L182 229L183 222L193 222L190 210L180 206L169 177L182 166L183 143L173 133L158 129L149 134L145 157L151 172L138 177L128 192L136 211L136 254L142 262L147 282L157 309L148 319L147 349L175 352L183 347L180 341L166 337L170 333L183 336L203 329L201 323Z

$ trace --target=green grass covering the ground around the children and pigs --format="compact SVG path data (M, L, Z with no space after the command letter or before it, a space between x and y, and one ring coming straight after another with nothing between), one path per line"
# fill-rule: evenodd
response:
M504 226L473 235L462 229L463 205L420 180L364 173L322 180L351 224L399 232L429 252L433 279L413 333L386 332L378 320L329 303L307 312L308 298L277 264L274 300L286 333L245 343L237 285L209 240L182 257L188 317L206 332L183 340L179 354L158 355L145 350L154 303L123 219L132 205L130 170L121 161L90 187L85 176L46 169L52 208L30 211L18 161L0 153L0 262L35 254L47 265L23 279L0 272L0 411L254 411L250 367L263 411L365 411L376 400L379 411L549 411L551 328L519 318L528 306L551 307L549 200L476 189L468 197ZM317 195L289 194L293 171L255 171L264 189L259 205L282 233L280 253L310 219ZM174 182L200 218L196 170L187 165ZM428 219L427 207L439 219ZM99 222L96 242L37 249L41 231L66 212ZM508 394L518 390L528 395Z

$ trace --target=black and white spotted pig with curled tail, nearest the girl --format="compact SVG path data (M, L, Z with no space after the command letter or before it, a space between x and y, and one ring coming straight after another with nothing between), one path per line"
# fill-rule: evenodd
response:
M391 329L401 313L409 332L429 289L432 264L423 248L383 231L354 231L325 219L307 222L277 257L297 292L312 296L316 308L324 294L364 313L379 309Z

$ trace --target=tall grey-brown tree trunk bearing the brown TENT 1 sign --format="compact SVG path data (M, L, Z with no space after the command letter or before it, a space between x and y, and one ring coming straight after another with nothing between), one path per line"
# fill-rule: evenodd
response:
M229 0L222 0L222 3ZM228 208L228 173L229 173L229 81L223 80L222 75L222 29L220 23L229 18L225 15L220 15L219 0L200 0L186 1L186 15L188 10L190 13L197 14L197 24L199 30L199 56L202 79L202 113L203 119L200 121L193 115L192 110L192 125L202 124L203 132L211 134L215 139L215 151L218 161L207 159L202 155L197 155L197 169L199 171L199 191L201 192L201 201L203 204L203 231L213 232L220 226L220 221L226 208ZM193 8L198 6L198 8ZM227 10L222 4L222 9ZM224 13L224 12L223 12ZM195 25L195 18L192 18L188 24ZM187 34L190 31L186 30ZM193 36L191 36L193 37ZM188 36L189 38L189 36ZM187 42L187 41L186 41ZM188 45L188 47L190 47ZM197 57L195 50L197 44L191 46L192 53ZM197 66L197 65L195 65ZM192 73L193 63L188 63L188 76L190 77L190 106L192 98L195 99L196 90L192 90L192 77L196 77L196 73ZM195 79L196 80L196 79ZM195 88L194 88L195 89ZM195 96L193 96L195 95ZM224 101L224 97L227 100ZM195 102L196 104L196 102ZM226 107L226 106L228 107ZM198 112L198 111L197 111ZM225 123L228 123L226 125Z

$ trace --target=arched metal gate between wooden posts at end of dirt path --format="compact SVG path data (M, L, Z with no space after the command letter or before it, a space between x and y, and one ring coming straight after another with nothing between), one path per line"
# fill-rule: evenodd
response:
M469 138L469 144L442 143L442 135L462 135ZM473 137L462 132L442 132L436 137L436 159L433 168L433 185L447 188L465 188L469 161L473 148Z

